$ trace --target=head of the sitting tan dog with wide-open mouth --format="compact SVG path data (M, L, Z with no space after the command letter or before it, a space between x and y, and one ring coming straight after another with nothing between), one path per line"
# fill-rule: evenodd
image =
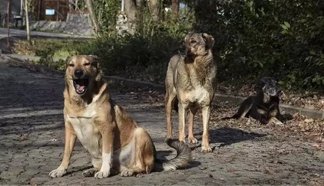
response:
M82 96L91 92L102 79L99 58L95 55L75 55L66 62L65 83Z

